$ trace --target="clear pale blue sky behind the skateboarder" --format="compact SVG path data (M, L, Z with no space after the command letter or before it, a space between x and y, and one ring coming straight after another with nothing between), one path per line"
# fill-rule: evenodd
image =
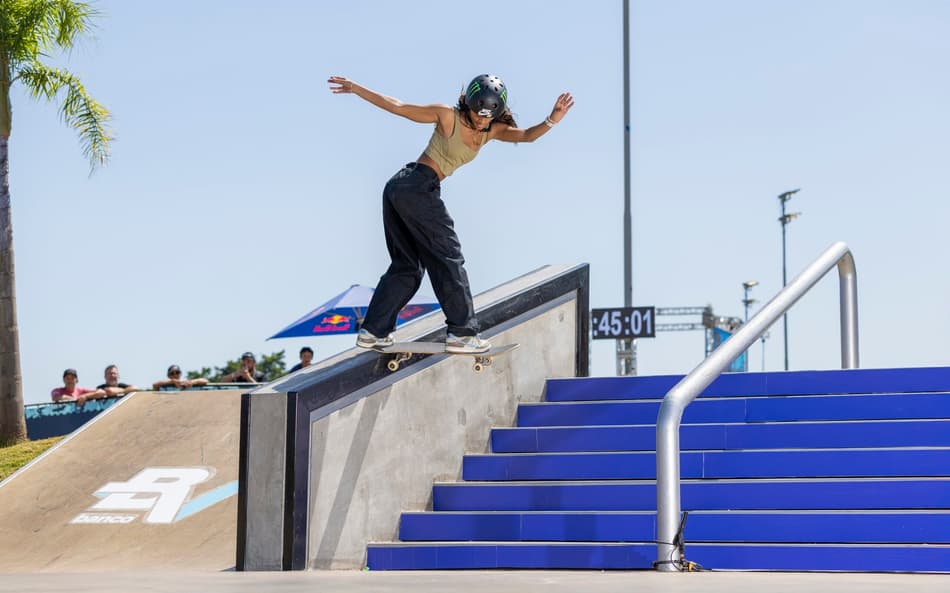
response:
M380 192L430 134L331 74L418 103L501 75L519 122L576 106L535 144L493 143L443 184L475 292L547 263L591 265L623 303L622 3L100 1L94 40L55 56L114 113L93 176L48 104L14 93L11 193L23 385L47 401L119 365L139 385L223 364L388 259ZM946 364L950 3L631 1L634 300L742 314L845 241L865 367ZM428 282L423 290L430 291ZM793 369L839 365L837 280L789 316ZM755 307L753 307L754 309ZM661 322L688 319L661 318ZM782 366L781 325L765 367ZM593 372L614 372L613 342ZM641 374L686 372L699 332L640 341ZM755 347L751 367L761 368Z

